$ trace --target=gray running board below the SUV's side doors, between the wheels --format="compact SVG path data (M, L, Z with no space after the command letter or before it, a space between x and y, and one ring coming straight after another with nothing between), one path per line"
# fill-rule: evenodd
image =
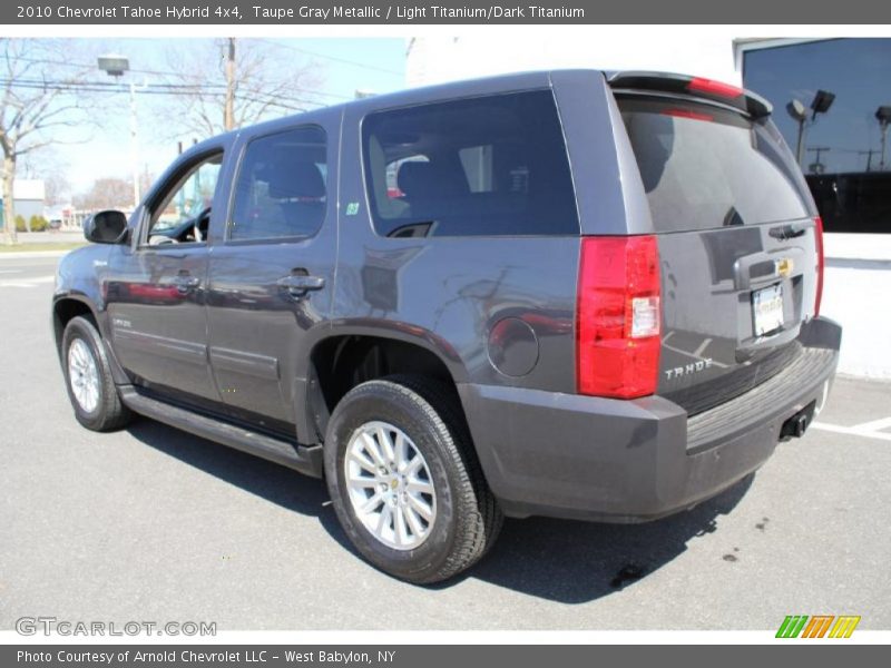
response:
M322 478L321 445L300 445L274 439L139 394L133 386L118 387L118 390L120 399L127 407L140 415L182 429L208 441L216 441L235 450L262 456L306 475Z

